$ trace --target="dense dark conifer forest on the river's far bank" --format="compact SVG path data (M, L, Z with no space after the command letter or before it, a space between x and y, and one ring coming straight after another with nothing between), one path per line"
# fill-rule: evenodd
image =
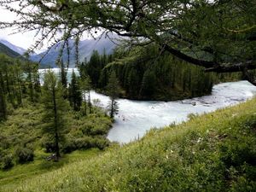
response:
M130 50L116 49L112 55L95 50L90 61L79 66L90 76L94 89L105 90L109 73L114 72L121 87L119 96L136 100L179 100L211 94L213 84L241 79L239 73L205 73L170 55L159 54L160 47L149 45Z

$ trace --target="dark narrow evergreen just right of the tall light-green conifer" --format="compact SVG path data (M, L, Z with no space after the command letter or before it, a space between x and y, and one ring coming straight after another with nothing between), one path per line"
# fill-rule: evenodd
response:
M79 111L82 105L82 92L79 87L79 79L74 71L72 72L71 84L68 87L68 99L73 110Z

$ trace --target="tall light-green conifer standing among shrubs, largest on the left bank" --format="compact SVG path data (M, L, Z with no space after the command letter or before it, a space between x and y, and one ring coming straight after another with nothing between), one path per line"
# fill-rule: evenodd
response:
M54 141L56 160L61 157L60 143L65 130L63 114L67 110L67 102L63 98L63 87L55 73L44 74L42 103L44 104L44 133Z

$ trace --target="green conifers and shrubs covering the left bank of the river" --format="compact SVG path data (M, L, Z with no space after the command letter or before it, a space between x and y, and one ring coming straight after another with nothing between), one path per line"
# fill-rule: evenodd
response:
M60 75L45 71L42 77L38 63L7 55L0 55L0 61L1 169L42 153L59 160L76 149L109 145L112 120L90 101L90 82L83 76L73 72L68 83L63 65Z

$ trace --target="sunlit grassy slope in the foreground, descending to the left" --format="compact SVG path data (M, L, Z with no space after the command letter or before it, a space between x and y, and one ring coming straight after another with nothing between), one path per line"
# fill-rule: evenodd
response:
M255 191L255 146L253 99L0 191Z

